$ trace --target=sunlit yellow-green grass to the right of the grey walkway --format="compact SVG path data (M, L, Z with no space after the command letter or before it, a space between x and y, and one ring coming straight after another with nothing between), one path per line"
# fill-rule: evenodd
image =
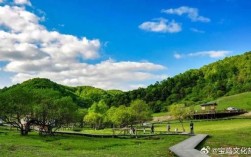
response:
M189 132L190 121L184 122L185 130ZM171 122L171 130L182 130L180 123ZM157 131L166 131L166 124L156 125ZM195 134L209 134L209 138L198 149L209 146L220 147L250 147L251 146L251 119L232 119L214 121L194 121Z

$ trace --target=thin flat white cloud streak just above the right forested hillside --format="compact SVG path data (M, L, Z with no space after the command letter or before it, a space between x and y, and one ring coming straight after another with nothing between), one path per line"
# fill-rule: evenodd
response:
M191 57L196 57L196 56L209 56L210 58L223 58L226 57L231 51L225 51L225 50L220 50L220 51L201 51L201 52L195 52L195 53L190 53L188 56Z

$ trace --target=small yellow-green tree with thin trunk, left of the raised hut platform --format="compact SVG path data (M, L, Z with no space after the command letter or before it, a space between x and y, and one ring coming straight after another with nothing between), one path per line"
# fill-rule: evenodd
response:
M183 120L189 117L191 112L192 109L190 107L186 107L184 104L174 104L169 107L170 115L179 120L183 132L185 132Z

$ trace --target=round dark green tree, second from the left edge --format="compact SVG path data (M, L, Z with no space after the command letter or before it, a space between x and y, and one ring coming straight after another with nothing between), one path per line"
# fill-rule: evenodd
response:
M40 134L52 135L65 124L76 121L77 105L71 97L61 97L51 89L36 90L32 124L39 126Z

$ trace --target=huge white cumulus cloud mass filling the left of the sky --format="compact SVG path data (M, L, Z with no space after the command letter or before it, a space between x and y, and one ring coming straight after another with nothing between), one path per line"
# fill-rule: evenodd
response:
M22 6L0 6L0 62L7 62L1 70L14 73L13 83L43 77L65 85L129 90L163 79L154 71L165 67L150 62L80 62L100 56L100 41L50 31L41 20Z

